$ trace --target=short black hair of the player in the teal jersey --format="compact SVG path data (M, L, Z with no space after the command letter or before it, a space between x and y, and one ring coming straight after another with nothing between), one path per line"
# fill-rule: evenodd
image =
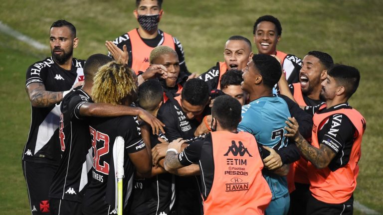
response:
M282 75L281 64L271 55L256 54L252 58L254 67L262 76L263 85L273 88Z

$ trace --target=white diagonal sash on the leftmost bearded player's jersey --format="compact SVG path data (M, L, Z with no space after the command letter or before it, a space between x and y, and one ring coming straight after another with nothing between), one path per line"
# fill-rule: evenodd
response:
M36 146L33 154L36 154L42 147L44 147L52 137L54 131L58 128L61 115L60 106L61 103L55 105L40 126L38 126Z

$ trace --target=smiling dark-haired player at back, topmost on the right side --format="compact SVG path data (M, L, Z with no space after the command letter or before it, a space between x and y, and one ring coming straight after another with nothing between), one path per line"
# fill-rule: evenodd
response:
M289 84L299 82L302 60L292 54L277 51L277 44L282 35L282 26L279 20L272 15L260 16L254 23L253 35L258 54L276 55L281 61L287 82Z

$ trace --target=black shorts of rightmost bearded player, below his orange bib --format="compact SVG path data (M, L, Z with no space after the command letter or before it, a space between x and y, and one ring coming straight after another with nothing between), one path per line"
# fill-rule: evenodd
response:
M308 215L352 215L354 212L354 198L341 204L329 204L321 202L310 195L307 202L306 214Z

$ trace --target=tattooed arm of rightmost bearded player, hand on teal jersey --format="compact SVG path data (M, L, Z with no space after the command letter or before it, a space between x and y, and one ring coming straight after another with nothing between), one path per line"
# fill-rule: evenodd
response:
M308 159L316 168L322 169L327 167L331 160L335 157L336 153L330 149L330 147L320 144L320 148L316 148L309 144L305 138L298 131L298 123L295 118L290 118L286 121L289 127L285 127L289 131L286 136L294 137L297 147L301 151L302 155Z

